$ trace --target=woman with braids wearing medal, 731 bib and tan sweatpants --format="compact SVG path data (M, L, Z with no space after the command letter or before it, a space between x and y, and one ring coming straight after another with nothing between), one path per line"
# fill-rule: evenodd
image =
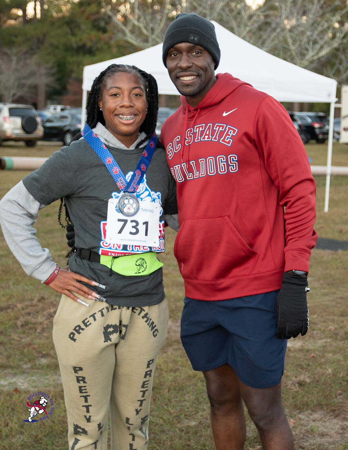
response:
M62 293L53 340L69 449L143 450L156 359L167 335L164 214L175 182L156 147L154 78L113 64L94 81L83 138L55 152L1 201L1 225L27 274ZM64 198L77 251L58 267L35 238L38 211Z

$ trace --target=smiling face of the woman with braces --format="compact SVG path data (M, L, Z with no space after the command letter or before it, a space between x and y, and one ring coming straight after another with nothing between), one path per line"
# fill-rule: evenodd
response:
M148 107L145 88L138 77L118 72L107 78L98 105L106 128L129 148L138 139Z

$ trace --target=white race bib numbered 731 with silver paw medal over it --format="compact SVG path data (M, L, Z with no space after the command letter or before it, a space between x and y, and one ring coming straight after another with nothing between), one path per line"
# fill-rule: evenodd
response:
M159 203L145 202L134 194L109 198L105 240L109 244L159 247Z

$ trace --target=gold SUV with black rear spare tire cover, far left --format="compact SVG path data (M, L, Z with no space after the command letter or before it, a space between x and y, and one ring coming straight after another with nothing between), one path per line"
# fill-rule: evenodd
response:
M0 145L4 141L24 141L34 147L44 135L41 118L35 108L19 103L0 103Z

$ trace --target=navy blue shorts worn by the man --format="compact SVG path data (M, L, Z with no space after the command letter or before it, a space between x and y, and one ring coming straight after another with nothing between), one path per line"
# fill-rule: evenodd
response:
M205 371L228 363L248 386L280 383L287 340L276 337L278 292L217 301L185 297L181 342L192 368Z

